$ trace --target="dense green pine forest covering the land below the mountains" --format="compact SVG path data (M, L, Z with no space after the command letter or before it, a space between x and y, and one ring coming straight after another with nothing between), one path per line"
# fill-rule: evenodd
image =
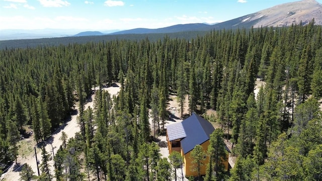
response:
M6 48L0 58L0 166L17 159L26 125L41 143L77 103L81 131L63 141L51 171L43 150L35 179L172 180L175 165L160 158L148 119L164 134L169 96L182 110L188 95L189 113L215 110L213 121L230 128L218 135L237 157L230 172L205 180L322 180L322 27L313 21L191 40ZM255 95L257 78L266 84ZM85 109L92 87L113 82L117 97L96 89L94 109ZM28 166L22 172L30 180Z

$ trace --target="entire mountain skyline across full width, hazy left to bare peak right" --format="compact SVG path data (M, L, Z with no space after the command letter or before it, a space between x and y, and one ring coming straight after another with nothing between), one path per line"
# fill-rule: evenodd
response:
M77 33L76 30L1 30L0 40L31 39L52 37L78 37L99 35L124 35L124 34L156 34L178 33L189 31L210 31L220 29L258 28L258 27L284 27L292 24L305 25L314 19L315 25L322 25L322 5L315 0L302 0L293 3L281 4L253 14L245 15L229 21L206 24L194 23L174 25L165 28L147 29L136 28L131 30L86 31ZM79 32L79 31L78 31Z

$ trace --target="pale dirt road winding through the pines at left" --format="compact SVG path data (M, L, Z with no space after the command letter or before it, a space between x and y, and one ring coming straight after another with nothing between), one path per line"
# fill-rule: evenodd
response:
M98 87L96 87L96 89L98 89ZM118 92L120 91L120 84L115 83L115 84L113 84L113 86L104 88L104 90L107 90L111 94L111 97L112 97L113 95L117 95ZM92 95L92 99L89 99L89 101L86 103L85 109L87 109L89 106L91 108L93 108L94 98L95 98L95 95ZM75 135L75 133L79 131L79 127L78 127L77 120L76 120L76 118L78 116L78 105L75 105L75 111L77 112L77 115L72 115L70 121L66 122L60 129L57 129L57 131L52 134L52 137L50 139L48 139L47 145L45 148L46 148L46 151L50 155L52 155L53 152L55 154L56 151L58 150L58 148L60 147L60 145L62 144L62 142L59 140L59 138L61 137L62 131L64 131L67 134L68 139L73 137ZM33 138L29 138L29 139L33 139ZM28 140L28 139L25 139L22 141L30 141L31 142L31 140ZM36 148L37 148L37 146L36 146ZM38 166L40 167L41 149L37 148L36 150L37 150L37 158L38 158L38 160L40 160ZM27 156L19 155L18 159L17 159L17 164L15 163L14 165L12 165L11 168L9 168L9 170L7 171L7 173L3 174L0 177L0 180L8 180L8 181L9 180L13 180L13 181L19 180L19 178L20 178L19 172L21 170L21 167L25 163L28 163L32 167L32 169L34 170L35 174L38 175L36 157L33 152L33 154L30 154ZM53 160L50 161L50 165L51 165L51 167L50 167L51 172L53 173L53 170L54 170Z

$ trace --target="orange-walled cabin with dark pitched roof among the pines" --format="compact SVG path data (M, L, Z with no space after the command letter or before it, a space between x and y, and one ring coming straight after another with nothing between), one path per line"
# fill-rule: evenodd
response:
M186 176L198 176L198 171L190 169L192 158L191 151L196 145L201 145L203 150L207 152L210 144L210 134L215 130L211 123L199 115L192 113L190 117L180 123L170 124L167 126L167 142L169 154L178 151L183 156L183 170ZM229 149L226 146L227 159L223 162L225 169L228 170L228 154ZM206 174L206 167L209 162L209 156L205 155L204 164L200 170L201 175Z

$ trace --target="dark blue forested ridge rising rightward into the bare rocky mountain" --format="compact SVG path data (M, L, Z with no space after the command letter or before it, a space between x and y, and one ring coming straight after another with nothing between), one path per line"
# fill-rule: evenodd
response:
M183 31L210 31L218 29L258 28L258 27L284 27L292 24L307 24L314 19L315 25L322 25L322 5L315 0L303 0L286 3L265 9L253 14L245 15L214 25L185 24L166 28L146 29L137 28L111 33L117 34L147 34L147 33L174 33Z

